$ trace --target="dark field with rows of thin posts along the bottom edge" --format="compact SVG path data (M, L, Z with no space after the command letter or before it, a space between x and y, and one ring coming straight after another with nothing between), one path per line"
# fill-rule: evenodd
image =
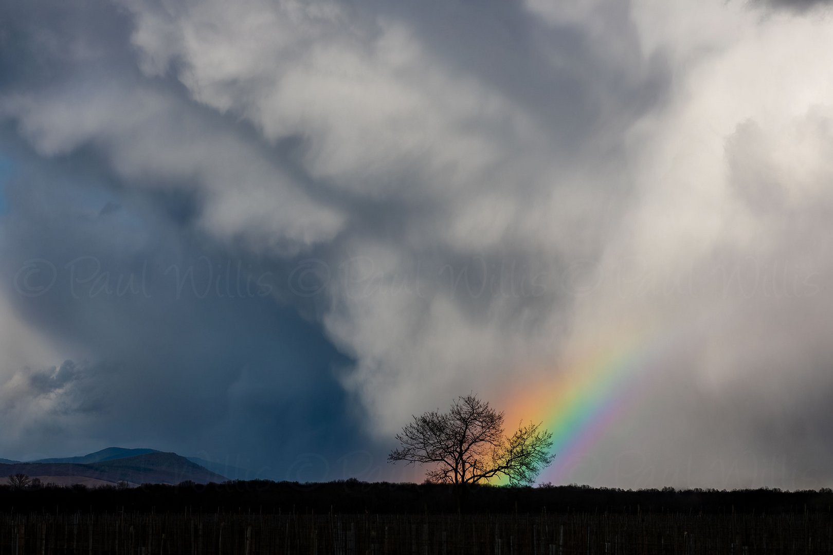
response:
M0 553L833 553L827 515L0 515Z

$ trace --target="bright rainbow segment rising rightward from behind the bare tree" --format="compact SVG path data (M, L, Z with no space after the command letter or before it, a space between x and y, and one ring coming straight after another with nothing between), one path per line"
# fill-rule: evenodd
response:
M646 369L656 363L661 351L645 344L619 341L604 352L576 357L577 362L547 373L555 375L554 379L509 399L506 414L543 422L552 434L556 458L539 482L563 483L611 427L626 422L629 410L650 389Z

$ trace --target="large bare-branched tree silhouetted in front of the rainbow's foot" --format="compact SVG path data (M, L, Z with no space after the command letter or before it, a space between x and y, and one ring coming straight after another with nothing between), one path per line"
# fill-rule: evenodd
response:
M475 395L461 396L447 413L414 416L397 434L402 447L387 459L429 466L430 482L465 484L505 477L511 485L530 485L555 458L550 454L552 434L541 424L521 424L506 436L503 418Z

